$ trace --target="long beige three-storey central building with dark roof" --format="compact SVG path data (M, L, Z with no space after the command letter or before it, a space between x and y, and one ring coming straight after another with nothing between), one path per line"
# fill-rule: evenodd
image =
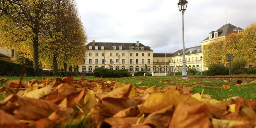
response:
M134 50L132 50L132 44L135 45ZM84 64L79 66L79 72L93 72L95 68L100 67L115 70L127 69L132 72L133 65L134 71L153 71L153 50L139 41L136 43L92 41L86 46Z

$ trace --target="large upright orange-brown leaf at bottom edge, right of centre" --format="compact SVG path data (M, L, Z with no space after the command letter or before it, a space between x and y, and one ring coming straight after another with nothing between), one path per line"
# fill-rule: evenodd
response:
M208 108L204 103L190 107L185 102L180 103L174 110L169 128L208 128L210 120Z

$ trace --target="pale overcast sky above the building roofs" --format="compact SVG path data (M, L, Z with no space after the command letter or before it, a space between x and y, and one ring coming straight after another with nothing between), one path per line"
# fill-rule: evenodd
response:
M182 49L179 0L76 0L87 42L140 43L154 53ZM188 0L184 13L185 48L201 45L208 33L230 23L256 22L256 0ZM227 12L227 16L226 16ZM227 18L226 18L227 17Z

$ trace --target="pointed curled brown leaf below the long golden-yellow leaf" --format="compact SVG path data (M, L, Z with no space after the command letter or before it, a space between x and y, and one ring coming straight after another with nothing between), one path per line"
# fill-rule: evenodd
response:
M145 119L144 124L151 124L158 128L168 127L174 111L173 105L153 112Z

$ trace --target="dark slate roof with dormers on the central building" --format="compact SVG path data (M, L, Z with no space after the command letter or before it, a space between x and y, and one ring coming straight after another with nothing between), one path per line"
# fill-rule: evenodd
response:
M122 50L130 50L129 47L132 46L132 43L95 42L95 46L99 46L98 50L101 50L101 46L104 46L104 44L105 44L105 50L113 50L112 46L116 46L116 50L119 50L118 46L122 46ZM134 45L135 45L134 47L137 47L136 43L134 43ZM92 46L92 50L95 50L95 46L93 46L92 42L86 44L87 50L89 49L89 46ZM141 50L141 47L144 47L144 50ZM153 50L151 50L150 47L139 43L139 50L135 50L135 51L153 51Z

